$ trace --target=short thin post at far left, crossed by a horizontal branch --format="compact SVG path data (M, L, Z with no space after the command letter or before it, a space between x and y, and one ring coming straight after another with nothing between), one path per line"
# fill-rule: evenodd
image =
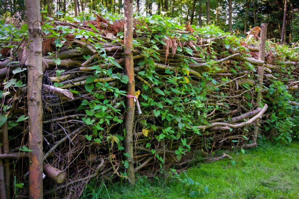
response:
M2 148L3 153L8 153L9 145L8 145L8 132L7 132L7 122L2 125ZM9 166L9 159L3 160L4 164L4 179L5 179L5 187L6 187L6 197L10 198L10 166Z

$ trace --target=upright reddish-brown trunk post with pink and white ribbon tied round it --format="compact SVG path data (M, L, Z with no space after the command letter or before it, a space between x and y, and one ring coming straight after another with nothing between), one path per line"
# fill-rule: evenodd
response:
M125 73L129 77L127 83L127 94L135 96L135 79L134 79L134 62L133 62L133 0L125 0L125 26L124 26L124 57L125 57ZM134 161L133 161L133 125L135 114L134 98L126 99L126 117L124 138L124 146L126 153L130 156L126 157L129 163L127 169L131 184L135 184Z

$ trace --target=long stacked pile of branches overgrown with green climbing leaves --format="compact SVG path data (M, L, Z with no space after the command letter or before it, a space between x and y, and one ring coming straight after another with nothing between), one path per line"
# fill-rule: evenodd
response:
M254 128L260 138L289 143L299 115L298 47L267 40L265 61L260 61L259 27L244 39L214 25L180 26L179 20L134 19L140 106L136 103L135 171L184 168L196 150L256 146ZM44 189L46 195L74 198L94 177L126 178L124 21L102 12L43 17L43 23L44 170L55 168L57 174L46 173ZM27 26L1 23L0 34L0 124L8 126L9 139L9 151L0 158L14 158L10 172L26 187ZM258 66L264 67L261 88ZM28 195L27 189L17 189L20 196Z

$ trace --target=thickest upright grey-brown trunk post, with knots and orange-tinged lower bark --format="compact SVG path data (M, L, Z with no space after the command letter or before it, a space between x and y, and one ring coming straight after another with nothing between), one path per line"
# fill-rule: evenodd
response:
M42 178L42 24L39 0L27 0L28 22L28 126L29 126L29 198L43 198Z

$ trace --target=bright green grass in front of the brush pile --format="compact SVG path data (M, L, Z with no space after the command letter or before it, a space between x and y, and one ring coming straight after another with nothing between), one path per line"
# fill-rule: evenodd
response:
M195 187L200 192L198 198L299 198L299 143L289 146L264 143L245 150L245 154L241 151L229 154L235 166L223 159L189 167L187 176L202 184ZM187 186L179 180L167 180L165 186L163 183L144 176L134 187L123 182L99 185L93 181L86 187L83 198L191 198ZM205 195L204 186L209 191Z

